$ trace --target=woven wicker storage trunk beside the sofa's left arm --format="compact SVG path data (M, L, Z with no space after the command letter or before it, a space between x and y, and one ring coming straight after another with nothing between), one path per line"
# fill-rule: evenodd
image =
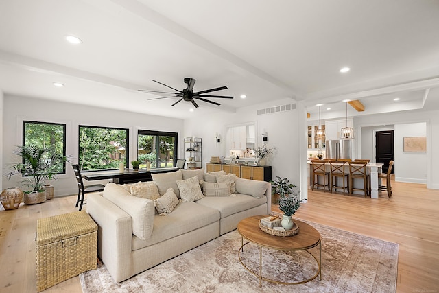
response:
M36 289L97 268L97 224L86 211L37 220Z

